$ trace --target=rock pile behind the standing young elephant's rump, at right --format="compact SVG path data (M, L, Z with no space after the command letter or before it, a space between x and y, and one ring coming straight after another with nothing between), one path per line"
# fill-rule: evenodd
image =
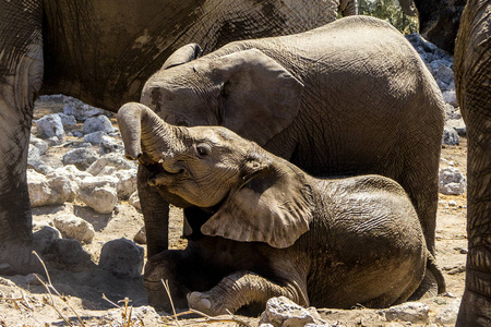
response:
M455 94L454 59L435 45L421 38L419 34L410 34L406 38L418 51L436 81L445 101L446 120L442 144L458 145L458 136L466 135L466 125L462 119Z

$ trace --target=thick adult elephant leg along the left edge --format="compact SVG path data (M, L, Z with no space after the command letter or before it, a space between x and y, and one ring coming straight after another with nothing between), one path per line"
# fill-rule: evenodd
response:
M0 2L0 274L40 271L26 181L34 99L43 80L43 2Z

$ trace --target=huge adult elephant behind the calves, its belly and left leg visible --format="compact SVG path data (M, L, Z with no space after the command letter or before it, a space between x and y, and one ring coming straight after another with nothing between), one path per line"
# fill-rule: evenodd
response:
M356 12L355 0L0 1L0 272L29 272L26 161L33 104L63 93L109 110L137 100L177 48L291 34Z

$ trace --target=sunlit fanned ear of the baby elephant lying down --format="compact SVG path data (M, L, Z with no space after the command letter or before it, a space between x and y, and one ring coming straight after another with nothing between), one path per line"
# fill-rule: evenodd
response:
M300 171L271 167L231 192L201 228L211 237L288 247L309 230L312 191Z

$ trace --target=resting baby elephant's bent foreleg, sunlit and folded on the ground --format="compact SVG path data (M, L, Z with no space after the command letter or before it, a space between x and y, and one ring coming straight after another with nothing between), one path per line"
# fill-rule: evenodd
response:
M271 298L286 296L300 305L308 306L307 290L296 283L280 286L250 271L237 271L226 276L206 292L192 292L188 295L191 308L208 315L235 313L240 307L255 304L263 311Z

